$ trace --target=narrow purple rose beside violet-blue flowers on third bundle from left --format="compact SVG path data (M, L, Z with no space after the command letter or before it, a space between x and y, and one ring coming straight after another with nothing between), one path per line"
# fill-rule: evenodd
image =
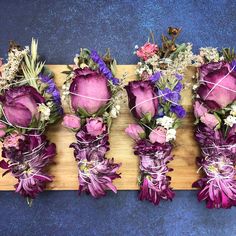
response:
M150 113L155 116L158 108L158 98L151 81L132 81L125 87L129 97L129 108L133 115L140 119Z

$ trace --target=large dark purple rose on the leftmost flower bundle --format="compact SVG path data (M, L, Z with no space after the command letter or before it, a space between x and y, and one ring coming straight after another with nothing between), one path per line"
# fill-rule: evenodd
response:
M38 104L45 100L31 86L10 88L0 97L5 118L12 124L28 127L33 118L39 117Z

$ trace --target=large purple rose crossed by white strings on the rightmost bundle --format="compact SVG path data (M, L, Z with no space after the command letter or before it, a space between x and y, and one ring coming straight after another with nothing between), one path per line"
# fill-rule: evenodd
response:
M211 109L226 107L236 99L236 71L229 63L209 63L200 67L197 93Z

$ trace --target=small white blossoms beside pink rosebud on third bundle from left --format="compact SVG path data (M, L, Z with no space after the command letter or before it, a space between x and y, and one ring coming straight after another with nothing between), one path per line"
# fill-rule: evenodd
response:
M156 124L163 126L166 131L166 142L176 139L176 130L173 128L174 119L168 116L163 116L156 119Z

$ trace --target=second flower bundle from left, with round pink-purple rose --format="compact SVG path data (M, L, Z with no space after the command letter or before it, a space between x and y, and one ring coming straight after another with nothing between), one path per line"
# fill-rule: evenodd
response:
M70 147L78 163L79 193L100 198L108 189L116 192L113 180L120 178L120 164L105 154L112 119L120 110L122 83L114 77L116 61L109 51L100 57L96 51L81 49L74 62L75 66L64 72L68 79L62 95L74 114L65 115L63 125L76 132L77 142Z

